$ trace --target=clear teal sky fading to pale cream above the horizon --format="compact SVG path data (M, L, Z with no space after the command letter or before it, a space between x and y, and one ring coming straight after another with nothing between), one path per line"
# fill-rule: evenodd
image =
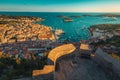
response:
M120 12L120 0L0 0L0 11Z

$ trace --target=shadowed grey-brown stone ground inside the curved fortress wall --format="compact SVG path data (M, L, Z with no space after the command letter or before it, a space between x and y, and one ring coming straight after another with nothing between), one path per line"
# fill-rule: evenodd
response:
M77 66L71 65L71 60L62 60L56 72L56 80L111 80L91 59L77 58Z

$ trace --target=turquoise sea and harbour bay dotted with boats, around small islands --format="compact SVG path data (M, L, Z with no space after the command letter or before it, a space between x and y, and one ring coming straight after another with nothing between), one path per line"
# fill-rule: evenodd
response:
M45 20L38 22L46 26L51 26L53 29L62 29L65 34L60 39L69 39L71 41L87 40L91 37L88 28L94 24L120 24L120 17L116 20L107 20L104 17L97 16L104 13L64 13L64 12L0 12L0 15L13 15L13 16L35 16L41 17ZM91 16L83 16L89 14ZM120 13L116 13L120 14ZM57 16L82 16L81 18L73 18L73 22L63 22L63 20Z

